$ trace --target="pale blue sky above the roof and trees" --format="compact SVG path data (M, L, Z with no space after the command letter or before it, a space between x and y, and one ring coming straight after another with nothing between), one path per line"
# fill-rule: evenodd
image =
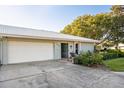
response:
M76 17L109 12L111 5L0 6L0 24L59 32Z

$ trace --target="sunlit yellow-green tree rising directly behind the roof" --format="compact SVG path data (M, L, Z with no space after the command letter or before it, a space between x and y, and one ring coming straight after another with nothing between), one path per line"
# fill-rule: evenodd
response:
M65 26L61 33L71 34L81 37L100 39L102 37L102 32L98 24L103 21L105 14L100 14L97 16L84 15L77 17L71 24ZM68 29L67 29L68 28Z

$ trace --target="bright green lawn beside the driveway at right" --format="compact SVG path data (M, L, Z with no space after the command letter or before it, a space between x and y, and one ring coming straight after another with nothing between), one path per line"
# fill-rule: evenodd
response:
M112 71L124 71L124 58L107 60L104 64Z

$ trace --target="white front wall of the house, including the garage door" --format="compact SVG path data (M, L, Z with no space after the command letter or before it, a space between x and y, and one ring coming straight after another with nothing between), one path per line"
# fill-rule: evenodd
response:
M4 40L4 39L3 39ZM79 53L94 51L93 43L50 41L26 38L7 38L4 45L3 60L6 64L61 59L61 43L68 43L68 57L75 52L75 44L79 44ZM6 47L5 47L6 45ZM7 49L6 49L7 48ZM3 63L4 63L3 62Z

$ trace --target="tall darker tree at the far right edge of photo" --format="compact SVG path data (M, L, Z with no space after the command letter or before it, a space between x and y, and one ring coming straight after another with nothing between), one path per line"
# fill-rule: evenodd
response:
M118 49L118 44L124 42L124 15L121 6L112 6L111 10L111 26L107 39L113 41Z

